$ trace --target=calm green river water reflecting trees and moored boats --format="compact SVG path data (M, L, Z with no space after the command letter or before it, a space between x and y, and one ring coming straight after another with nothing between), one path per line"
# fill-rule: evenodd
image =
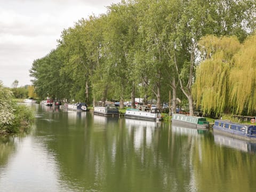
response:
M255 144L212 131L31 104L0 137L0 191L256 191Z

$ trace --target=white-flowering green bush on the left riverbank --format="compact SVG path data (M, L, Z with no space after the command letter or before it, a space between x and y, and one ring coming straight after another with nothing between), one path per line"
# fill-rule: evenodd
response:
M17 133L34 121L31 109L18 105L12 99L13 93L0 82L0 135Z

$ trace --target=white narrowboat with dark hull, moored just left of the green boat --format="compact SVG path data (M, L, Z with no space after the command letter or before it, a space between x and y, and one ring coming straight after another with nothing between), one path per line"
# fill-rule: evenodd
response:
M150 109L149 111L143 111L139 109L126 109L124 116L127 118L162 121L161 111L157 108Z

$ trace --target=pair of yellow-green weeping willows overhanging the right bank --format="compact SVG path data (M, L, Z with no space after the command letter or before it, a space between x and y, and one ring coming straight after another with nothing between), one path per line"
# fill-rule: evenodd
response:
M205 113L255 113L256 36L202 38L204 60L196 71L194 97Z

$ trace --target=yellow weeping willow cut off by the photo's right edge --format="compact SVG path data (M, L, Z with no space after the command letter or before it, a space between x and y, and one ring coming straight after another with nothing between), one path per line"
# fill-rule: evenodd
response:
M234 55L230 70L230 101L234 113L252 114L256 110L256 34L246 39Z

